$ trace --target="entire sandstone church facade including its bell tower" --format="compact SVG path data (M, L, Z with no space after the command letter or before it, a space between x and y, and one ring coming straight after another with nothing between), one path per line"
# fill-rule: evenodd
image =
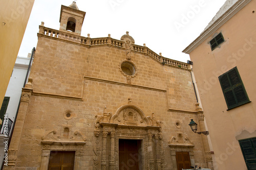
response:
M39 26L5 169L213 169L190 65L120 40L81 36L85 12L61 6Z

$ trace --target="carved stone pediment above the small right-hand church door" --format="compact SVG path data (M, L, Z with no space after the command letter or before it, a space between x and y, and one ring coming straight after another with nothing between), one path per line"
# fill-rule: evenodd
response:
M169 147L195 147L193 142L191 142L187 137L184 137L181 132L177 132L177 136L170 138L168 145Z

